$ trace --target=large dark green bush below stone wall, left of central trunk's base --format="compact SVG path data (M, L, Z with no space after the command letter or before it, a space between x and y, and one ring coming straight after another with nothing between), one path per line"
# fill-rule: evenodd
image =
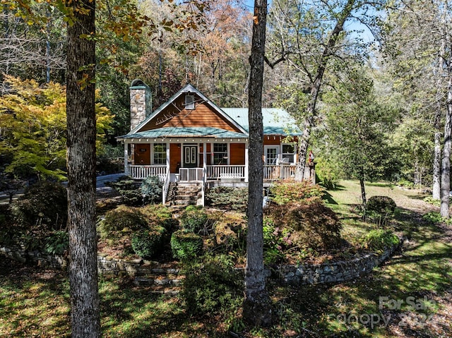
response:
M181 296L188 313L218 315L242 302L243 277L227 255L205 256L184 273Z

